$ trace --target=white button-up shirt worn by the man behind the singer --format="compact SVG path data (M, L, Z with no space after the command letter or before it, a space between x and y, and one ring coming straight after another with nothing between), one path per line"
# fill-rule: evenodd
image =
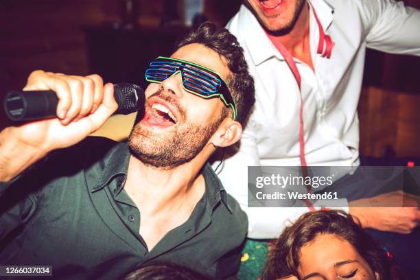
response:
M420 56L420 12L391 0L312 0L335 43L330 59L316 54L319 30L310 12L314 71L294 59L302 78L308 165L358 165L357 107L366 47ZM227 28L244 48L255 79L256 104L237 153L219 176L248 213L248 237L277 237L305 208L248 208L248 165L300 165L299 88L285 60L244 6Z

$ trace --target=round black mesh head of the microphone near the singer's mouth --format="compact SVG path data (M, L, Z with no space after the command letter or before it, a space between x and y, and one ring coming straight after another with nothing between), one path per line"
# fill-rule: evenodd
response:
M137 111L137 102L144 104L144 91L137 84L121 82L114 85L114 97L117 101L117 114L128 115Z

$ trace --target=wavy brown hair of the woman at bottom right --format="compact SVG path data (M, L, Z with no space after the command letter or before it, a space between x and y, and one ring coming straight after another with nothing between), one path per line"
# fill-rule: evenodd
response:
M324 234L336 235L349 242L381 280L402 279L397 267L386 257L384 249L362 229L358 220L345 211L329 210L305 213L281 233L268 254L264 280L299 275L297 270L301 248Z

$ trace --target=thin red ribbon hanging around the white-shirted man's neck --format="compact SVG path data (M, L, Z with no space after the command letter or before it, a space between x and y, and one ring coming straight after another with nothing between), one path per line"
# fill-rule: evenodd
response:
M312 8L312 11L314 12L314 16L316 19L316 23L318 23L318 30L319 30L319 42L318 42L318 49L317 53L321 54L324 58L330 58L331 52L334 47L334 42L331 40L331 37L329 35L326 35L323 26L321 25L318 16L316 15L315 9L312 6L312 3L308 0L307 1L310 5L310 8ZM293 56L290 54L290 52L277 40L275 36L272 34L269 34L266 32L268 38L270 38L273 45L275 45L276 49L280 52L281 56L285 59L285 62L288 64L288 67L292 71L294 78L296 79L296 82L299 86L299 99L301 103L301 107L299 110L299 158L301 160L302 165L302 171L303 175L306 176L307 174L307 163L305 158L305 126L303 124L303 98L302 98L302 91L301 91L301 74L299 73L299 70L297 69L296 63L293 60ZM324 49L324 42L325 42L325 49ZM308 192L312 193L312 189L309 186ZM309 200L303 200L307 207L314 211L315 208L312 205L312 203Z

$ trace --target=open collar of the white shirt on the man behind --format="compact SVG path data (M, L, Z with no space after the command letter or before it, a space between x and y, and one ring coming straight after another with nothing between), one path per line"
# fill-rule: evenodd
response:
M311 3L318 14L324 31L326 31L332 23L334 8L324 0L312 0ZM310 14L311 16L314 16L312 10ZM241 5L239 23L240 26L244 27L240 29L240 35L244 38L246 47L248 48L255 65L259 65L273 56L276 56L280 60L284 60L283 56L281 56L275 46L272 45L257 18L245 5ZM316 24L316 21L314 21L314 23ZM317 25L316 28L318 28ZM242 32L246 32L246 34L242 34ZM316 38L316 42L318 42L318 38Z

